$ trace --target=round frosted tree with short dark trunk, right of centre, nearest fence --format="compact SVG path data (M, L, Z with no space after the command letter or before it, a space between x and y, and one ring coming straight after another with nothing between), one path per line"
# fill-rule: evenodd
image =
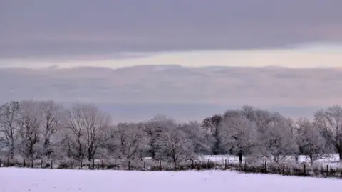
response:
M257 144L257 127L254 122L242 115L226 117L222 122L220 134L222 148L239 156L250 153Z

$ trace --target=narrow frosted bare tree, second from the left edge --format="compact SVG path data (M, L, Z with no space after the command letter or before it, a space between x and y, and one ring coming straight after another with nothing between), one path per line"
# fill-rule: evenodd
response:
M19 151L26 159L33 161L38 156L41 134L41 111L38 102L24 100L19 111Z

